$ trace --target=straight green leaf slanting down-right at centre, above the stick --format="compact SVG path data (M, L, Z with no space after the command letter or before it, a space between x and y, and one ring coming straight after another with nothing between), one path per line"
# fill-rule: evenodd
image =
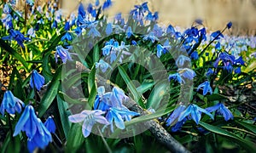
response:
M129 88L133 99L137 102L138 105L142 106L145 108L145 105L143 104L143 100L141 99L140 94L137 92L137 89L135 88L134 84L131 82L130 77L128 77L127 73L125 72L124 68L119 65L119 73L121 77L124 79L125 83L127 84L127 87Z

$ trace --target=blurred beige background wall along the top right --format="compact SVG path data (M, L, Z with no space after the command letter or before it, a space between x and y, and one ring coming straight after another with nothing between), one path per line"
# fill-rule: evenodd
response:
M25 1L25 0L20 0ZM44 3L48 0L35 0ZM105 0L100 0L102 3ZM256 35L256 0L112 0L112 8L105 11L108 16L121 12L129 14L135 4L148 2L150 10L158 11L161 24L191 26L195 19L204 20L208 30L224 28L233 22L232 35ZM66 15L77 11L79 2L95 3L95 0L55 0ZM20 5L20 4L19 4Z

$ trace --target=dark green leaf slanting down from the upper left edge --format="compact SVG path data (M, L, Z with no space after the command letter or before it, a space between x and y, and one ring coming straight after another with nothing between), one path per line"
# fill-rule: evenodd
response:
M24 66L26 71L29 71L26 60L23 59L20 54L18 54L14 48L11 48L7 42L4 42L3 39L0 39L0 47L6 50L9 54L14 56L15 59L18 59L20 63Z

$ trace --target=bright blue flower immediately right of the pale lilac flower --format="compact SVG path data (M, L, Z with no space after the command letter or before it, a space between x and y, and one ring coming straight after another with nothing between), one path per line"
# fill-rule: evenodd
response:
M113 122L119 129L125 129L125 121L131 121L131 116L139 116L140 114L128 109L116 109L111 107L106 114L106 118L110 123L110 129L113 132Z

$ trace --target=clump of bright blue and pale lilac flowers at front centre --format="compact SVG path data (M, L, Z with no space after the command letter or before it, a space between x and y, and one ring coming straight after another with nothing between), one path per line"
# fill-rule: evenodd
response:
M98 88L98 95L94 103L94 110L84 110L79 114L68 116L70 122L84 122L82 132L84 137L90 135L92 127L99 122L105 126L102 131L110 126L113 132L113 122L119 129L125 129L125 121L131 121L131 116L139 116L137 112L129 111L123 105L123 102L128 99L123 90L114 87L112 92L105 93L105 88Z

